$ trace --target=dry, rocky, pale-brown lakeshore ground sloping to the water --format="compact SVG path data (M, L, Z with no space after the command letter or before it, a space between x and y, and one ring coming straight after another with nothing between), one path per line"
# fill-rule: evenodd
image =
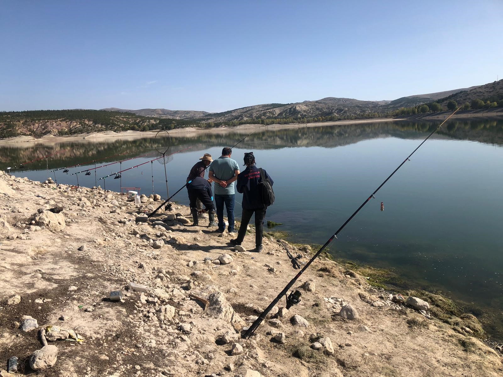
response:
M503 373L474 317L442 322L433 303L393 297L326 258L293 287L298 305L280 302L242 339L297 273L272 237L262 253L237 251L207 220L191 226L184 206L136 222L158 197L137 208L4 172L0 197L0 369L17 356L18 373L41 376ZM251 229L243 246L254 244ZM309 247L287 247L307 260Z

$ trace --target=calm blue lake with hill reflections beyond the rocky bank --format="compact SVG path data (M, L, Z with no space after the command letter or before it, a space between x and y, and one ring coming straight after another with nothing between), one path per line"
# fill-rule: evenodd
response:
M274 179L275 204L267 219L282 226L291 240L323 244L369 197L376 187L440 121L376 122L295 129L258 130L233 150L242 165L243 152L254 151L257 165ZM169 190L185 183L203 153L219 157L246 133L172 136L173 160L166 164ZM56 177L77 184L72 172L102 159L97 166L144 155L96 169L96 178L156 157L153 139L62 142L24 147L0 146L0 168L19 165L59 150L62 153L25 165L15 175L34 180ZM165 145L165 144L164 144ZM189 148L189 149L186 149ZM142 194L166 196L164 166L154 161L106 179L108 190L141 187ZM95 185L95 175L78 174L80 185ZM104 180L98 180L104 186ZM479 316L495 340L503 339L503 120L447 122L382 187L332 242L330 252L377 267L394 268L411 287L442 293ZM183 190L173 200L188 204ZM241 195L236 195L241 202ZM380 211L380 203L384 211ZM236 204L236 217L240 208ZM253 222L253 220L252 220ZM286 282L286 279L285 279Z

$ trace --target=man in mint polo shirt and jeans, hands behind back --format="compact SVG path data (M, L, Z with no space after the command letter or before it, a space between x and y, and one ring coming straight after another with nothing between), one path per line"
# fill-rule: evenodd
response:
M223 206L227 210L229 220L229 233L234 230L234 181L239 174L239 165L230 158L232 149L225 147L222 149L222 156L214 160L209 168L208 176L215 181L215 207L218 218L218 232L225 231L223 222Z

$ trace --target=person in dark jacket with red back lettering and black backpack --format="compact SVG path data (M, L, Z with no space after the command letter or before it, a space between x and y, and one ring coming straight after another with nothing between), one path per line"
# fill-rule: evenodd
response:
M267 210L262 200L262 186L259 185L262 177L260 170L255 166L253 152L244 154L244 164L246 165L246 169L239 173L236 181L237 192L243 194L241 225L239 226L237 238L230 240L230 243L240 245L243 242L251 215L255 213L255 250L253 251L261 252L264 218L266 217ZM272 185L274 182L271 176L266 170L264 170L264 174L269 178Z

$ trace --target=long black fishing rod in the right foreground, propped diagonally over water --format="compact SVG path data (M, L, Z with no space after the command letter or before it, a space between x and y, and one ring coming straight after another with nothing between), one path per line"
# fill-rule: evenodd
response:
M451 118L460 108L458 107L454 113L452 113L449 118ZM248 328L248 330L246 330L246 332L244 333L243 335L243 338L246 339L246 338L249 338L251 335L253 335L255 333L255 330L257 330L257 328L260 326L260 324L262 323L262 321L264 321L264 319L266 318L266 316L269 314L269 312L271 311L271 309L283 298L283 296L286 297L286 307L287 309L289 309L292 305L295 305L295 304L298 304L300 302L300 292L299 291L295 291L295 292L291 292L289 296L286 296L288 290L295 284L295 281L297 281L297 279L300 277L300 275L302 275L302 273L311 265L311 263L314 261L314 259L316 259L318 257L319 254L321 254L321 252L326 248L326 246L332 242L332 240L334 238L337 239L337 235L339 234L339 232L341 232L341 230L344 229L344 227L346 225L348 225L348 223L356 216L356 214L358 212L360 212L360 210L368 203L370 202L371 199L375 198L375 194L381 189L382 186L384 186L384 184L398 171L398 169L400 167L402 167L402 165L407 162L407 161L410 161L410 156L412 156L415 151L417 149L419 149L440 127L442 127L442 125L447 122L449 120L449 118L447 118L446 120L444 120L437 128L435 128L432 133L430 135L428 135L428 137L423 140L423 142L418 145L413 151L412 153L410 153L404 160L403 162L398 165L398 167L379 185L379 187L377 187L377 189L375 189L375 191L365 200L365 202L362 203L362 205L360 207L358 207L358 209L348 218L348 220L345 221L345 223L337 230L337 232L335 232L324 244L323 246L320 247L320 249L316 252L316 254L313 255L313 257L311 259L309 259L309 261L305 264L305 266L294 276L294 278L292 280L290 280L290 282L286 285L286 287L283 289L283 291L280 292L280 294L278 295L278 297L276 297L272 302L271 304L269 304L269 306L262 312L262 314L255 320L255 322L253 324L251 324L251 326Z

